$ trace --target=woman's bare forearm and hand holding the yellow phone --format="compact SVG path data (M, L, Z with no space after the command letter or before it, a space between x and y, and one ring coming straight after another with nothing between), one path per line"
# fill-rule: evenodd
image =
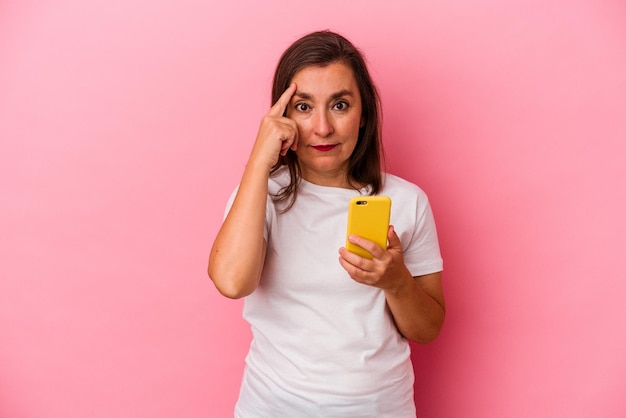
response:
M439 335L446 315L441 272L412 277L393 226L387 238L385 250L364 238L350 236L351 242L374 258L362 258L341 248L339 262L353 280L383 289L396 326L405 338L428 343Z

